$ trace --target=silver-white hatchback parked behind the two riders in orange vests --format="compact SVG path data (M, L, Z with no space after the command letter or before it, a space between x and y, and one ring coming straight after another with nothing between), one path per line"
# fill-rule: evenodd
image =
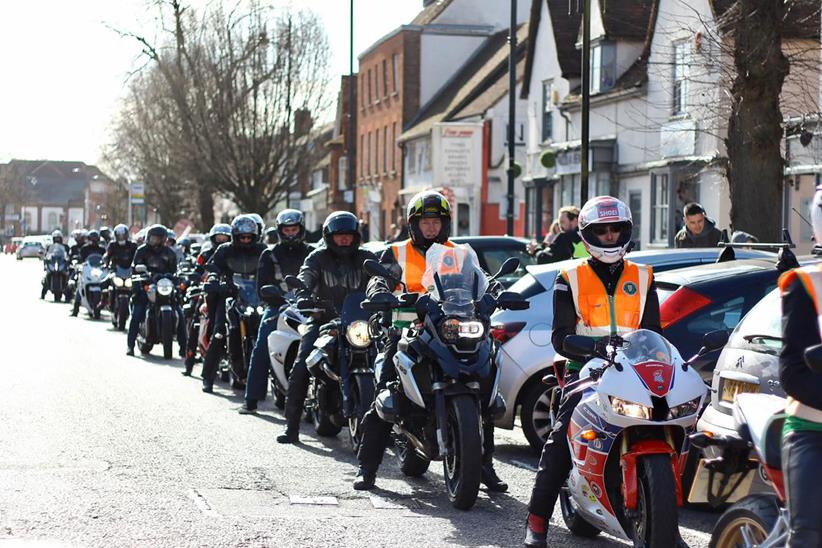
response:
M738 249L738 259L771 258L774 253ZM655 272L716 262L717 249L656 249L636 251L630 260L651 265ZM528 273L511 286L530 303L527 310L500 310L491 316L491 335L500 342L500 394L505 398L505 414L497 420L501 428L513 429L519 413L522 430L534 451L541 451L550 430L550 392L542 383L553 374L554 347L551 344L554 282L560 270L579 259L527 267Z

